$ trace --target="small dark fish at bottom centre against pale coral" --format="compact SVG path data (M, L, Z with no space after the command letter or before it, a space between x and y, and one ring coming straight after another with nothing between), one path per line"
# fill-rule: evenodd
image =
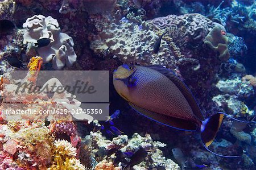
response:
M131 156L131 160L129 161L129 163L125 166L125 168L132 168L134 165L138 165L139 163L141 163L147 156L147 151L144 150L143 148L140 148L138 151L136 151L133 156Z

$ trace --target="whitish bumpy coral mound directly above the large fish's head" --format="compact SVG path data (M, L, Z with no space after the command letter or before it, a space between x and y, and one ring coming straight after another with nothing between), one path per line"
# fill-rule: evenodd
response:
M129 39L127 39L129 36ZM153 55L153 46L158 36L148 30L146 25L138 26L129 20L124 20L100 32L97 39L90 44L96 53L102 53L109 48L109 53L126 63L172 65L174 56L166 41L162 41L162 49Z

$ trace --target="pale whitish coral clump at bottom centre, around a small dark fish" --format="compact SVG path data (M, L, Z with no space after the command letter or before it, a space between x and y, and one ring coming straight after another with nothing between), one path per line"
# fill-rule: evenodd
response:
M135 133L131 139L127 139L126 135L119 135L117 138L113 138L112 141L106 140L104 136L102 136L100 131L97 132L90 132L90 136L85 137L85 142L92 144L94 148L94 155L98 155L103 158L106 152L106 150L110 150L112 148L120 148L122 153L125 152L135 152L139 150L139 148L144 148L148 150L148 159L145 159L141 164L135 165L134 169L148 169L153 168L154 164L162 165L166 169L179 169L179 165L174 163L171 159L166 159L166 157L163 156L163 152L160 150L160 148L163 148L166 146L166 144L153 141L151 136L149 134L146 134L146 136L141 136L137 133ZM115 153L113 154L115 155ZM113 162L116 162L115 160L118 160L117 163L119 163L121 160L119 156L115 155L109 155L106 158L112 160L108 162L107 160L101 160L100 163L96 166L96 169L101 169L102 167L108 167L109 169L114 169ZM150 161L151 160L151 161ZM122 163L126 163L127 160L123 159ZM115 167L118 169L118 167Z

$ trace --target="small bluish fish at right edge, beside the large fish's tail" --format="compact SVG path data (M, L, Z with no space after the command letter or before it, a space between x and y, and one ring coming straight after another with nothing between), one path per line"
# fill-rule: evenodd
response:
M243 131L243 129L246 128L246 126L249 124L249 123L256 123L254 121L256 116L252 117L251 119L249 119L248 117L239 117L239 118L236 118L238 121L234 121L232 122L232 129L237 131L237 132L241 132Z

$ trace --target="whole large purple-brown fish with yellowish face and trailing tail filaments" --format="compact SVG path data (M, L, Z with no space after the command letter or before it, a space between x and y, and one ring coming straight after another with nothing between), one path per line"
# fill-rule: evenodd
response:
M185 131L200 131L204 147L209 150L225 113L205 119L187 85L170 69L152 65L143 67L123 64L113 73L117 93L138 113L163 125ZM236 119L234 119L237 121Z

